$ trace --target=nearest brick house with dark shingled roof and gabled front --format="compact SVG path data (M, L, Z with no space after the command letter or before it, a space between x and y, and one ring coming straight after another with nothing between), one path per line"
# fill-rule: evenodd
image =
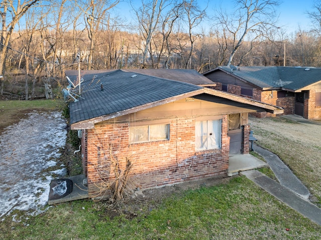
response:
M75 71L66 76L77 78ZM226 176L229 155L249 152L248 113L283 112L186 83L189 78L174 81L134 70L82 71L82 78L81 98L70 102L70 125L82 133L91 197L110 177L109 170L101 170L110 153L121 164L131 158L131 181L140 189ZM192 79L204 83L204 78L196 74Z

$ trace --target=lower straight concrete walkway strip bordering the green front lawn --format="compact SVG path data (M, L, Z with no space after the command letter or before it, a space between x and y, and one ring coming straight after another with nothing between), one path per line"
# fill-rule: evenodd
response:
M311 202L303 199L295 194L289 188L279 184L273 179L257 170L243 171L241 174L252 180L258 186L263 188L268 193L275 196L286 205L301 213L303 216L309 218L315 223L321 225L321 209Z

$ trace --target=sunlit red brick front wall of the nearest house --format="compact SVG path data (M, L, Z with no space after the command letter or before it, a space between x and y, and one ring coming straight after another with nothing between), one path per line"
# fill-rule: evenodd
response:
M195 150L195 119L177 118L170 121L170 140L129 144L129 126L96 124L87 130L87 179L89 195L97 190L103 178L112 177L104 169L104 159L111 152L123 167L125 158L133 163L131 181L141 189L170 185L186 180L226 175L230 137L227 135L227 116L222 119L222 147L198 152Z

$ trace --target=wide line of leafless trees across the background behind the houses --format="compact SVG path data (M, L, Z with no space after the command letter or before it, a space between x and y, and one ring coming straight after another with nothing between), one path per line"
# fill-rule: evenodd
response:
M233 14L196 0L142 0L131 3L130 23L115 13L119 2L3 0L0 75L25 74L28 96L28 79L62 78L79 61L88 70L321 66L321 2L309 13L315 28L291 35L277 25L277 0L236 0Z

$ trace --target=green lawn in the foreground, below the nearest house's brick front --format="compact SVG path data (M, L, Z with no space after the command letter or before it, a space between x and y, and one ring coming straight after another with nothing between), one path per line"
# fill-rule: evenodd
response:
M165 198L156 208L110 217L101 202L58 204L38 216L7 217L1 239L320 239L321 226L246 177ZM288 229L288 230L287 230Z

